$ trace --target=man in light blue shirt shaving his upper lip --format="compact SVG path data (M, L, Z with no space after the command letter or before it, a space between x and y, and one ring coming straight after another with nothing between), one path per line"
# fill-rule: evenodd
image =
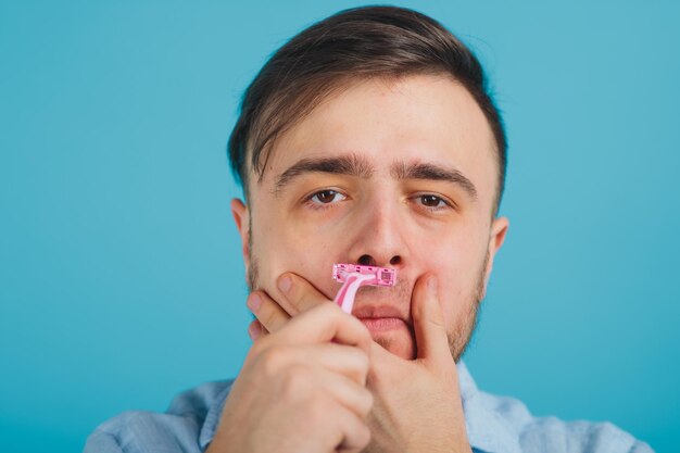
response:
M610 424L534 418L461 362L508 228L506 141L440 24L380 7L305 29L248 88L229 155L256 317L242 370L102 425L86 451L651 451ZM396 285L345 314L333 263Z

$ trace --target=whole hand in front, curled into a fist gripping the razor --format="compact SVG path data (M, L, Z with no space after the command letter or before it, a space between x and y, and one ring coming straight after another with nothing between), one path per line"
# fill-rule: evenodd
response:
M250 305L262 295L251 294ZM366 327L335 304L256 340L207 452L362 451L370 438L370 343Z

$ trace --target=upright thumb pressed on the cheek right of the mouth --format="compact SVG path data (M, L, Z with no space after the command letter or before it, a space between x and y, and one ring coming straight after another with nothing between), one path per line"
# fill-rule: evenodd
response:
M444 314L437 292L437 277L430 275L418 279L411 311L417 358L435 366L451 362Z

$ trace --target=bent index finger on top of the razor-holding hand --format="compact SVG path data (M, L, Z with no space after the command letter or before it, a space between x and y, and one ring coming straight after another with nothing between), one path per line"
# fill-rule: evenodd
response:
M335 303L323 303L291 318L276 332L281 344L308 344L336 341L361 348L370 356L370 332Z

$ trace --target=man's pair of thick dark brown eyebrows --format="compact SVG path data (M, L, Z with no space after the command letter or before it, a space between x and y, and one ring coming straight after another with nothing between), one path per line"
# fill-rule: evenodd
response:
M357 153L304 158L276 177L274 193L279 194L294 179L310 173L327 173L368 179L375 172L375 165ZM390 166L390 174L400 180L426 179L450 183L462 188L473 201L477 200L477 188L473 181L452 166L431 162L396 160Z

